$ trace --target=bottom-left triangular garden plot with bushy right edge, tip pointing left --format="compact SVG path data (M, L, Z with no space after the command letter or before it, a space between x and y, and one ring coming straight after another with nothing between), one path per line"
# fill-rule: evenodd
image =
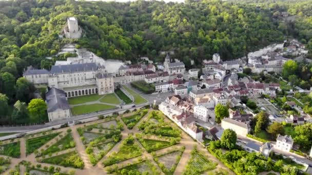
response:
M76 151L68 152L42 160L43 163L61 165L65 167L73 167L83 169L84 162L81 160Z

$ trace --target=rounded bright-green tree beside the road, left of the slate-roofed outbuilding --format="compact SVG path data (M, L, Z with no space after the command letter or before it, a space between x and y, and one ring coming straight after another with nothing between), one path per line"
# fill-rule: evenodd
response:
M32 99L27 107L31 122L45 122L47 121L47 104L43 99Z

